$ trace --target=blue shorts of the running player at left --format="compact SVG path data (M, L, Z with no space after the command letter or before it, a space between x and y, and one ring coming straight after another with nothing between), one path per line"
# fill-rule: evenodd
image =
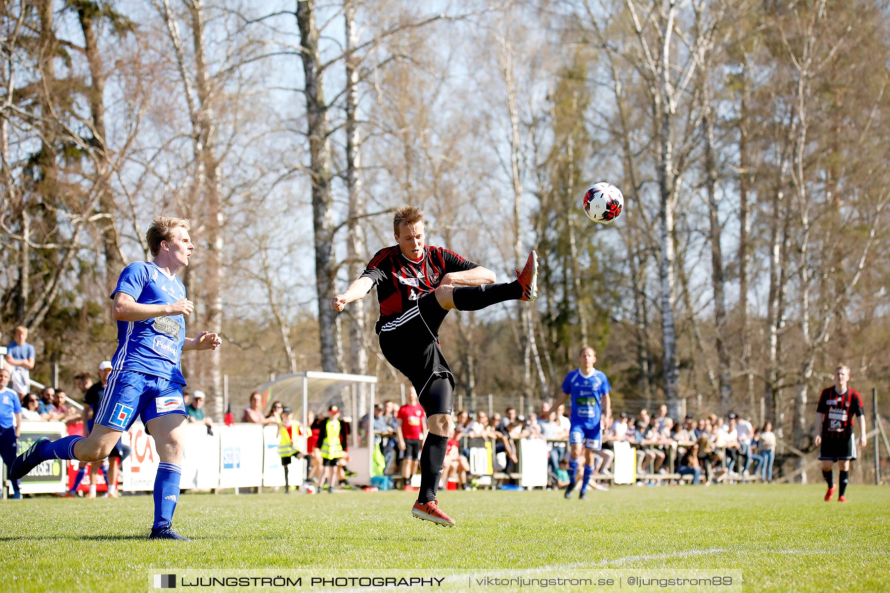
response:
M143 424L167 414L186 416L181 383L138 371L112 371L93 421L124 432L141 418Z

